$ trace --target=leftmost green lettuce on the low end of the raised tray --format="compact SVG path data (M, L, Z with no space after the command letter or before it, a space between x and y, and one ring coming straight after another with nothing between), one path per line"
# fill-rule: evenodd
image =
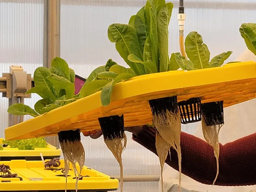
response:
M53 109L76 101L78 97L74 95L75 73L70 69L67 62L60 57L52 60L52 67L38 67L34 72L35 86L27 93L36 93L42 99L36 102L34 109L22 103L10 106L8 113L13 115L38 115L47 113Z

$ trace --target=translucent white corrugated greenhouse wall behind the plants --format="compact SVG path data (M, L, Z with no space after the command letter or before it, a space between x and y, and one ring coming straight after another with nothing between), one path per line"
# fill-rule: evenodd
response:
M10 65L22 65L28 73L42 66L43 57L43 0L23 0L10 3L0 0L0 74L9 72ZM17 3L18 2L18 3ZM178 1L170 22L170 53L178 52ZM145 0L61 0L61 57L76 72L87 77L109 58L125 65L107 38L112 23L128 23ZM184 0L185 35L198 31L208 45L211 57L232 50L229 61L245 49L239 34L244 22L256 23L255 0ZM175 82L170 82L175 83ZM38 97L25 99L33 107ZM0 97L0 137L7 126L8 99ZM27 119L26 117L25 119ZM194 133L195 126L182 127ZM159 175L158 158L131 140L127 133L127 148L123 153L125 175ZM86 165L109 175L118 175L119 166L105 146L103 139L82 138ZM125 183L124 191L155 192L158 182Z

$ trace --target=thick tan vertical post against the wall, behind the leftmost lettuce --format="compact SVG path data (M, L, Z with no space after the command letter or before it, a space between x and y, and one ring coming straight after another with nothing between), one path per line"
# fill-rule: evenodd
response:
M60 56L60 0L44 0L44 60L50 68L54 57ZM46 137L48 143L59 147L57 136Z

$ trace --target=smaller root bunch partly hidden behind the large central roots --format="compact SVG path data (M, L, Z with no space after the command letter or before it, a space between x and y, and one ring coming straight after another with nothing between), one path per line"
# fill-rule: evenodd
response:
M162 192L163 192L163 166L167 158L168 151L170 151L171 145L162 138L162 136L159 134L158 131L155 135L155 147L157 148L157 154L158 154L160 166L161 166L161 184L162 184Z

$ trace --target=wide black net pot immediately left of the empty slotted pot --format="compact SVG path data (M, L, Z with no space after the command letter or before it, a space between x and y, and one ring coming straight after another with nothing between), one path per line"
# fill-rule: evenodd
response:
M152 99L149 100L149 105L153 115L166 113L166 110L172 113L178 112L177 96Z

